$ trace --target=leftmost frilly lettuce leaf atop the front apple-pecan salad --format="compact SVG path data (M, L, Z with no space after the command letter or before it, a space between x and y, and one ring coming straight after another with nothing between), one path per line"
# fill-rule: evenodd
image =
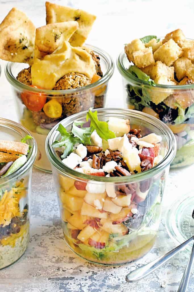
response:
M67 132L65 127L63 125L59 124L56 131L59 131L61 134L61 140L55 141L52 144L52 147L62 147L65 146L65 151L63 152L63 155L61 156L61 159L66 158L72 151L75 143L80 142L79 138L74 137L73 133Z

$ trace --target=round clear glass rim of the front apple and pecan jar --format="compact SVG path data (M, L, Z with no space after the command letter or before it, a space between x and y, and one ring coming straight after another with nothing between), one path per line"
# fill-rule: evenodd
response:
M166 168L171 162L172 160L175 158L176 155L176 139L175 139L175 135L172 133L172 131L170 130L170 128L168 126L166 126L163 122L161 122L160 120L156 119L155 117L152 117L148 114L145 114L143 112L139 112L136 110L131 110L131 109L117 109L117 108L101 108L101 109L97 109L98 111L98 115L100 114L119 114L121 117L124 114L127 115L133 115L134 117L138 118L138 119L142 119L147 121L149 124L155 126L156 128L158 128L160 131L163 132L163 134L165 135L165 137L167 138L168 144L169 144L169 149L168 152L166 153L164 159L157 164L156 166L154 166L153 168L142 172L142 173L137 173L134 175L130 175L130 176L122 176L122 177L100 177L100 176L94 176L94 175L88 175L88 174L83 174L80 173L78 171L75 171L74 169L71 169L67 166L65 166L65 164L63 164L57 157L56 154L53 150L53 147L51 146L52 143L54 142L54 136L56 135L56 129L58 128L58 125L60 123L63 124L63 126L65 125L70 125L72 124L73 121L75 121L77 118L81 118L81 117L86 117L86 113L88 111L84 111L81 113L77 113L74 114L70 117L67 117L65 119L63 119L62 121L60 121L56 126L54 126L54 128L52 128L52 130L49 132L49 134L47 135L47 139L45 142L45 148L46 148L46 153L47 153L47 157L49 159L49 161L51 162L51 164L57 168L58 171L60 171L61 173L68 175L68 176L72 176L72 178L76 177L76 180L93 180L96 182L111 182L111 183L132 183L132 182L138 182L140 180L145 180L147 178L150 178L154 175L156 175L157 173L159 173L160 171L162 171L164 168Z

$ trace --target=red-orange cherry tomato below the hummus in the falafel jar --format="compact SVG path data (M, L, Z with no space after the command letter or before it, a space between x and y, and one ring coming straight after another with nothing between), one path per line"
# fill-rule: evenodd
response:
M39 88L34 85L30 85L33 88ZM41 88L40 88L41 89ZM24 91L21 93L22 101L24 105L33 112L40 111L46 103L46 95L42 92Z

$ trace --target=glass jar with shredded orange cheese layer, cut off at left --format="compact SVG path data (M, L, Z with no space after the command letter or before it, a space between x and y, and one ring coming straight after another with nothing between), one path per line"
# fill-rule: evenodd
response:
M29 242L32 166L37 145L23 126L0 118L0 269Z

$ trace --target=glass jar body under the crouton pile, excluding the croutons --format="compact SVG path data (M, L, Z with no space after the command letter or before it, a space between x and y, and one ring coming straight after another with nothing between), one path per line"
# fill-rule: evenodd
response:
M177 154L172 161L172 168L193 164L194 104L183 110L178 104L176 107L171 105L167 99L172 95L185 100L194 99L194 84L184 86L156 84L156 86L151 86L148 82L132 75L128 71L130 65L133 63L128 61L123 50L117 58L117 67L122 75L125 107L151 114L170 127L177 141ZM155 104L152 102L152 98L158 101L165 100L165 103Z

